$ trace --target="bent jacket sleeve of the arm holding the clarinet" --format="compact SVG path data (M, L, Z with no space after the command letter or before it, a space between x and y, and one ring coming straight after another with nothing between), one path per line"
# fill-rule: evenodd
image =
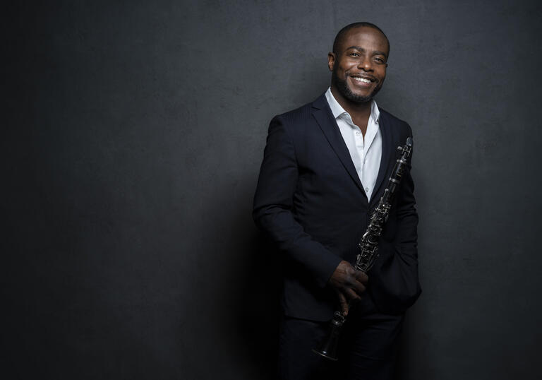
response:
M254 196L253 218L281 251L311 273L320 287L327 284L341 259L316 242L294 217L299 170L294 143L281 117L272 119Z

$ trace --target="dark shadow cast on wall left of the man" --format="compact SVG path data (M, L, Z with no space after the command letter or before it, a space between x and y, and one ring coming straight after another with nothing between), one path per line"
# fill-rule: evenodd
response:
M217 239L212 255L220 267L215 341L248 376L276 379L281 269L277 251L252 220L255 182L255 176L233 179L217 186L207 203L211 215L222 211L208 231Z

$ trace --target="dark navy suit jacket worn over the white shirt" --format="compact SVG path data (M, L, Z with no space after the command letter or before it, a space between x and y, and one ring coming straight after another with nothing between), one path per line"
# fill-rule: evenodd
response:
M412 136L406 122L383 109L379 126L382 159L368 201L325 95L270 123L253 218L284 253L282 306L288 316L326 321L337 309L327 280L341 260L355 260L397 146ZM380 256L368 272L364 297L385 314L402 313L421 292L413 191L407 172L380 237Z

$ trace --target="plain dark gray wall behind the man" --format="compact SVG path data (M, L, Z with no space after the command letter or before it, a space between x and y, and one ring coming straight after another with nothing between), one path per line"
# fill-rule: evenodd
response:
M402 376L540 378L539 4L4 8L1 371L272 379L280 268L251 220L267 124L323 93L335 33L369 20L391 42L378 104L416 142Z

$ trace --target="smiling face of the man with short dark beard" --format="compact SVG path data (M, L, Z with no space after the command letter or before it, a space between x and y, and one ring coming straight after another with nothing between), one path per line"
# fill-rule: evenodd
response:
M386 38L378 30L349 30L337 52L328 54L332 88L351 102L368 102L384 83L389 51Z

